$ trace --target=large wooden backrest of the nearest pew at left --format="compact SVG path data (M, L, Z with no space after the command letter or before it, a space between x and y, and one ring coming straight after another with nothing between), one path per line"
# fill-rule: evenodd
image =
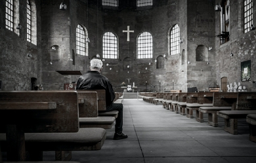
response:
M1 91L1 132L9 124L19 124L24 132L78 132L77 99L70 90Z

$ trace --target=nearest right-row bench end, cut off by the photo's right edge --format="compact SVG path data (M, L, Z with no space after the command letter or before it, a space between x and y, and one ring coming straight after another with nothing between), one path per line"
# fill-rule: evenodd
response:
M256 114L247 115L246 122L249 123L249 140L256 142Z

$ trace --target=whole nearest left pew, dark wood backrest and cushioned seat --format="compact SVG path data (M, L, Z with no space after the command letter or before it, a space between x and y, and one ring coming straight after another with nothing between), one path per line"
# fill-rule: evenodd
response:
M7 160L24 161L26 151L32 160L56 151L60 160L60 151L101 149L106 130L79 129L77 99L75 91L0 92L0 143Z

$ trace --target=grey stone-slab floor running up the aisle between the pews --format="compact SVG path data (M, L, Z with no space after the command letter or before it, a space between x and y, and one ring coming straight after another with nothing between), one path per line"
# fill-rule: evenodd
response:
M100 151L73 151L72 161L78 162L256 162L256 143L249 141L248 125L239 121L239 134L197 122L162 105L141 99L123 100L123 133L127 139L113 140L114 128L107 130ZM54 152L45 152L44 160L54 160Z

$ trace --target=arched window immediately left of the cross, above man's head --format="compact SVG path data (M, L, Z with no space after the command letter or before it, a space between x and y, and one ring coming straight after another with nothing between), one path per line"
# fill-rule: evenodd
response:
M117 59L117 37L112 32L106 32L103 35L103 58Z

